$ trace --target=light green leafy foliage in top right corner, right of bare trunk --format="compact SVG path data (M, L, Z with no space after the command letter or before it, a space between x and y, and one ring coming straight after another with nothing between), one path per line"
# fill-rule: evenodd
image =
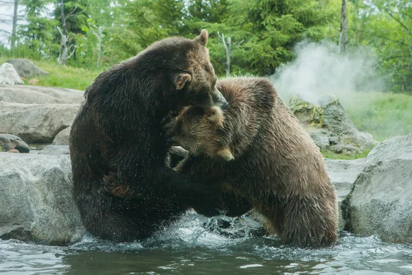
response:
M412 94L411 1L356 0L352 13L354 44L374 47L392 90Z

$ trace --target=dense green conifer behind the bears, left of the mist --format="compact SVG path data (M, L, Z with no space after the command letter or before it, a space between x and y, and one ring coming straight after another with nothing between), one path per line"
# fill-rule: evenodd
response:
M231 0L222 23L209 24L211 36L217 31L231 34L238 46L231 58L231 71L270 75L280 64L295 56L293 47L302 39L319 41L336 36L334 12L315 0ZM207 24L205 24L207 25ZM223 63L225 53L211 45L213 59ZM213 50L212 50L213 48ZM214 64L215 65L215 64ZM216 66L218 74L222 67Z

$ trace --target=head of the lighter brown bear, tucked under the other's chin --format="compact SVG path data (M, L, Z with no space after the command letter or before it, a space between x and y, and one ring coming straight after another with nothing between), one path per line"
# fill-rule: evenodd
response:
M181 146L191 155L229 161L234 157L224 124L225 115L219 107L186 107L165 127L170 145Z

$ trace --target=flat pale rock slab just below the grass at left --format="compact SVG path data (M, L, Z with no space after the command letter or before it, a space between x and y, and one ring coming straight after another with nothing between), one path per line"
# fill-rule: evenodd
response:
M41 86L0 85L0 101L25 104L79 104L83 91Z

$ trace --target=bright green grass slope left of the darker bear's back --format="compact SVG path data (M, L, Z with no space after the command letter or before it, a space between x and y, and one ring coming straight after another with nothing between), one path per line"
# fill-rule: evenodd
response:
M0 64L3 64L9 58L0 58ZM84 91L98 76L100 72L89 69L75 68L70 66L61 66L58 63L50 61L33 61L34 65L49 72L48 76L36 77L38 84L47 87L61 87L69 89L79 89ZM30 79L23 79L25 85Z

